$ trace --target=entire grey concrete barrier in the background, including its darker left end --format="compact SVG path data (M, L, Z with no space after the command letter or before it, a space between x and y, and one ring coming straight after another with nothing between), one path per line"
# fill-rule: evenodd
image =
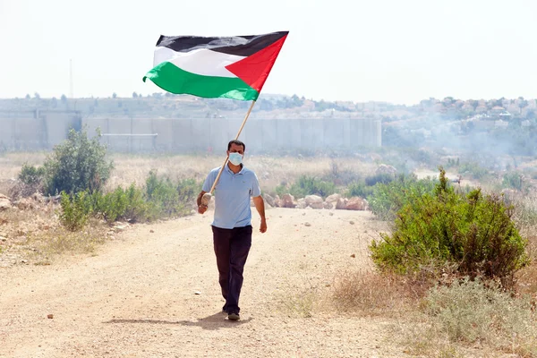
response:
M100 128L101 141L117 152L206 152L222 150L234 139L242 118L150 119L81 118L76 112L29 111L0 114L0 150L51 149L70 128ZM348 150L379 147L379 120L350 118L248 120L240 140L249 152Z

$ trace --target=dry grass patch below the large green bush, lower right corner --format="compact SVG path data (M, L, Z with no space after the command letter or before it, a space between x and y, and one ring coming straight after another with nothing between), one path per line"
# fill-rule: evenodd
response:
M526 298L478 282L430 287L425 281L355 272L341 275L338 311L395 319L405 353L434 357L537 357L537 314Z

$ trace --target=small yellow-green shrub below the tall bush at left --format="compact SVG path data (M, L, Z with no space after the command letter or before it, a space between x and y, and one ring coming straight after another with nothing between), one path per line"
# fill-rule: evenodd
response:
M60 222L71 231L81 229L93 212L90 195L88 192L77 192L74 195L62 192L61 195Z

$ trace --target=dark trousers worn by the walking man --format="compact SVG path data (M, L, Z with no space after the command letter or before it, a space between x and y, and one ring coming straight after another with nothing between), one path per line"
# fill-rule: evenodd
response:
M224 310L238 313L244 264L251 247L251 226L233 229L212 226L212 230L217 255L218 282L222 288L222 296L226 300Z

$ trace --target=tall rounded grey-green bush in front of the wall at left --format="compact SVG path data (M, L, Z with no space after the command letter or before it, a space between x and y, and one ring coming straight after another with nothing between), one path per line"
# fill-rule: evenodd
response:
M98 136L90 140L85 130L69 131L67 140L56 146L45 162L47 194L86 190L91 193L103 188L113 165L105 159L107 149L99 144Z

